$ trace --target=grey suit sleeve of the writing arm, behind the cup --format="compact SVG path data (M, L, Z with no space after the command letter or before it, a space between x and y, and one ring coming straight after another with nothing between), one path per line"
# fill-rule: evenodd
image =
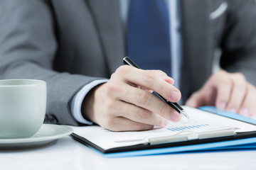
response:
M79 125L70 103L82 86L97 78L53 71L58 43L49 4L1 0L0 6L0 79L46 81L46 123Z

